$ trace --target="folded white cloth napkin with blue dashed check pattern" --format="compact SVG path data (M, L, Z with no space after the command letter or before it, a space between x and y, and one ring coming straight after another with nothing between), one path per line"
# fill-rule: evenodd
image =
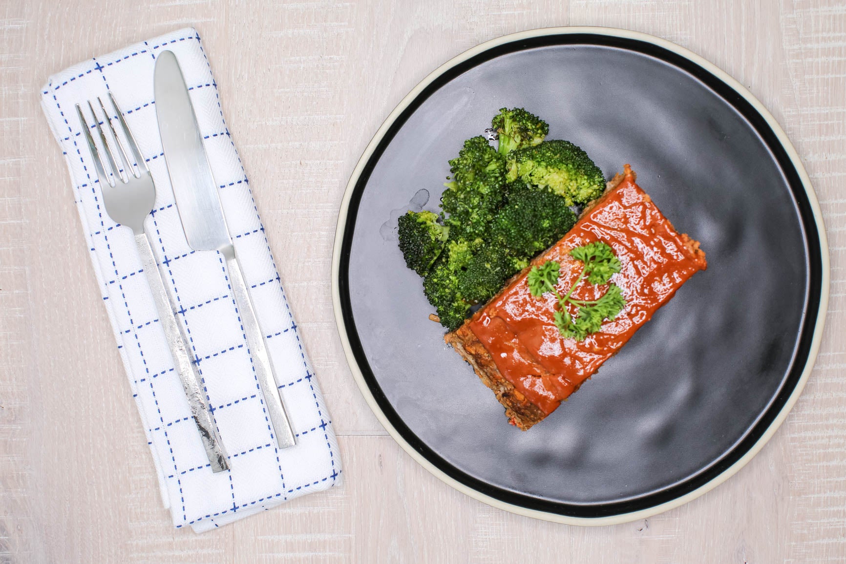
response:
M222 257L217 252L194 252L185 241L153 99L153 67L164 50L176 55L189 86L229 233L282 384L280 392L297 439L296 446L287 449L277 449L267 424ZM178 321L190 334L188 344L201 372L206 402L228 452L231 469L225 472L212 474L209 468L146 277L138 276L142 271L133 233L116 225L101 205L96 169L74 105L87 107L85 101L92 100L96 106L97 96L108 104L108 90L124 112L156 183L156 205L146 219L146 233L162 278L179 305ZM197 32L175 31L55 74L41 89L41 106L68 163L103 304L173 524L201 532L338 485L341 465L332 422L288 309Z

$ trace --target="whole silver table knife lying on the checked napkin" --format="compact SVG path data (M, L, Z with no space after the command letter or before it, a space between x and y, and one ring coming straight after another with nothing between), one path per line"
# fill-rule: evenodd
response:
M264 333L241 274L238 254L226 227L226 216L217 195L217 183L211 174L188 87L173 52L159 53L153 78L159 134L185 238L191 249L218 251L226 260L229 285L244 326L273 435L279 448L294 446L294 432L279 395Z

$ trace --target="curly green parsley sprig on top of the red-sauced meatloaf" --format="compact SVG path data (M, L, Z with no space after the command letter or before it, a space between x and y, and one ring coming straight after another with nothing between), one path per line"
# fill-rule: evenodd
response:
M591 333L596 333L602 326L602 321L613 320L623 310L626 300L617 284L609 284L602 297L593 300L571 298L570 295L579 284L587 278L591 284L605 284L615 272L620 271L620 260L614 256L613 249L602 241L576 247L570 251L570 256L581 260L585 266L581 274L563 296L558 293L558 276L561 265L555 260L548 260L541 266L533 266L526 281L533 296L540 298L544 293L552 293L558 298L560 309L553 314L555 326L563 337L572 337L576 341L584 341ZM567 304L574 304L579 308L579 314L573 317L567 309Z

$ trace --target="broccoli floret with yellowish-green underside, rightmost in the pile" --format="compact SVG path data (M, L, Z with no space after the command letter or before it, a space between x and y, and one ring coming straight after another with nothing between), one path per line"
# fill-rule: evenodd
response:
M605 178L591 157L569 141L551 140L508 154L508 182L547 187L567 205L585 204L605 189Z

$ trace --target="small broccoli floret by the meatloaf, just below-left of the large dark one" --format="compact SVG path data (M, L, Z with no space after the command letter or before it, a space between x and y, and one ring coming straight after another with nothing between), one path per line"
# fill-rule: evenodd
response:
M528 264L527 260L508 255L508 249L502 246L488 245L473 255L459 274L459 291L472 304L486 302L503 289L508 278Z

